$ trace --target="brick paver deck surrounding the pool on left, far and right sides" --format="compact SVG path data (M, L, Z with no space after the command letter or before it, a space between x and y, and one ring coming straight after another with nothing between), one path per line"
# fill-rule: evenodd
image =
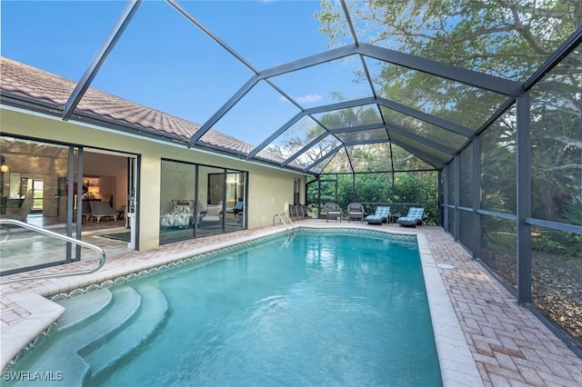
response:
M533 313L519 306L513 295L480 263L473 261L467 251L455 243L442 228L422 226L405 230L386 224L332 224L320 220L301 221L298 224L315 227L373 227L375 230L419 233L426 240L427 248L434 258L432 264L436 266L450 304L457 314L462 335L477 365L483 385L582 386L582 360ZM94 274L4 284L1 286L2 369L62 313L62 308L41 296L68 292L76 287L131 273L136 267L153 267L193 253L215 250L280 231L280 227L266 227L173 243L153 251L116 256L108 260L100 272ZM76 263L84 267L91 264ZM65 269L61 266L45 272L61 270ZM434 312L431 310L431 313ZM438 344L437 338L437 348ZM442 348L447 346L441 346L439 352ZM447 356L454 357L455 353L448 353ZM458 368L462 368L462 365ZM465 372L463 369L453 371L461 376ZM445 373L443 377L445 384L451 386L479 384L475 381L462 382L470 379L457 378L455 374L451 376L448 371L447 377Z

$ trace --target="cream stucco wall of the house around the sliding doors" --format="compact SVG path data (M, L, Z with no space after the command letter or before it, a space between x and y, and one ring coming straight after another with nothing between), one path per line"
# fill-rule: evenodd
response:
M293 203L294 178L301 178L302 186L305 183L305 177L301 174L278 168L187 149L182 145L146 140L138 135L114 132L91 124L64 122L58 117L31 114L5 106L0 111L0 126L6 135L22 135L39 141L50 140L141 155L138 193L140 250L158 245L162 158L247 171L248 228L271 225L273 215L287 212L288 204ZM301 197L305 198L305 193Z

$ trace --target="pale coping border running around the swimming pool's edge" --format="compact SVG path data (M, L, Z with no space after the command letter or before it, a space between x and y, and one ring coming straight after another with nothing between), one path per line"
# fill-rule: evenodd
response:
M362 227L361 225L336 225L329 223L301 224L298 230L317 229L321 231L352 230L356 233L388 233L391 235L404 236L406 239L416 239L418 253L420 256L423 275L426 284L428 306L437 344L437 353L441 370L441 377L445 386L449 385L484 385L477 370L477 364L468 347L467 339L461 329L457 315L447 294L447 289L443 279L438 272L437 263L430 246L426 242L422 233L396 232L393 229L383 229ZM115 257L108 262L102 271L76 277L64 277L47 280L34 280L27 283L27 286L18 286L23 283L4 284L1 289L3 297L9 303L14 303L22 311L29 313L21 322L8 327L3 327L2 352L0 367L4 371L9 369L17 359L30 351L37 342L42 340L46 334L55 328L55 322L64 312L64 308L50 299L66 296L75 292L84 292L91 289L92 285L99 283L111 284L115 281L125 281L135 276L135 273L159 270L160 266L172 267L182 263L188 257L205 257L205 254L215 253L224 249L238 248L243 243L258 243L263 239L279 236L286 233L286 229L281 227L269 227L260 230L251 230L247 233L232 235L227 240L214 243L206 243L202 240L188 241L186 243L173 243L186 247L183 249L172 249L161 246L158 249L147 252L132 252L119 257ZM224 235L224 234L223 234ZM202 241L202 243L200 243ZM196 253L193 253L196 248ZM177 250L171 253L172 250ZM130 259L127 256L139 255L137 259ZM161 256L163 253L164 256ZM155 255L155 258L152 257ZM198 258L200 259L200 258ZM137 264L136 264L137 263ZM90 263L76 263L77 265L89 265ZM49 272L63 270L62 266L52 268ZM11 286L10 286L11 285ZM21 288L21 289L19 289ZM25 289L22 289L25 288ZM7 293L5 290L10 289ZM5 304L3 303L3 308Z

